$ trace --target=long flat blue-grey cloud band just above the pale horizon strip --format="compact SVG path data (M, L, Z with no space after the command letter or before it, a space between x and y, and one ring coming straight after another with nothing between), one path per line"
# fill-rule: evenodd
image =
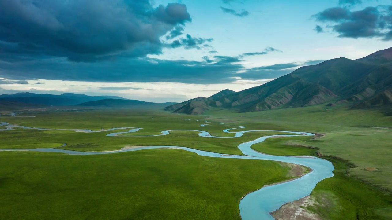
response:
M0 77L14 80L47 79L90 82L181 82L228 83L236 72L243 70L229 57L215 63L187 60L125 59L95 63L72 63L64 58L40 62L5 63Z

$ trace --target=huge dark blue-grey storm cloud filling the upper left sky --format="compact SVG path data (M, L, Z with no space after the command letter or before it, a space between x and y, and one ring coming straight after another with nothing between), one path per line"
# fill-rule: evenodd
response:
M149 0L0 0L0 59L97 61L160 54L160 38L191 21L183 4Z

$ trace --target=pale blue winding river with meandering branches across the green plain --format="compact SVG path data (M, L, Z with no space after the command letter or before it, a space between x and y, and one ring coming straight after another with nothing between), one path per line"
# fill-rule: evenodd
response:
M210 126L208 121L205 121L207 124L201 124L201 126ZM223 124L223 123L216 123ZM85 133L94 133L94 132L109 132L118 129L126 129L126 132L116 132L109 133L107 136L111 137L132 137L130 135L120 135L125 133L137 132L142 128L134 128L134 127L123 127L123 128L111 128L107 130L99 130L92 131L88 129L48 129L48 128L33 128L26 127L20 125L9 124L5 122L0 122L0 126L5 128L0 128L0 131L5 130L13 130L15 128L24 128L24 129L36 129L36 130L70 130L75 132L85 132ZM162 131L159 135L143 135L138 137L152 137L152 136L160 136L160 135L169 135L172 131L194 131L198 132L198 135L201 137L211 137L211 138L235 138L241 137L244 133L247 132L265 132L265 130L249 130L249 131L240 131L235 132L232 130L245 128L244 126L234 126L236 128L229 128L223 130L226 133L233 133L232 137L217 137L212 136L209 132L200 131L200 130L167 130ZM280 162L287 162L292 164L299 164L303 166L307 166L312 169L310 173L306 175L291 180L289 182L283 182L280 184L266 186L257 191L247 194L240 201L240 215L243 220L273 220L272 216L269 214L271 211L274 211L281 207L283 204L287 202L292 202L294 200L298 200L299 198L306 197L310 194L312 189L316 186L316 184L328 177L332 177L334 170L334 166L328 160L324 160L317 157L311 156L303 156L303 157L294 157L294 156L274 156L260 153L258 151L252 150L250 147L252 144L257 144L263 142L265 139L269 137L292 137L296 135L305 135L311 136L314 135L312 133L307 132L289 132L289 131L269 131L269 132L287 132L292 133L293 135L270 135L259 137L253 141L244 142L238 145L238 149L242 151L244 155L227 155L221 153L214 153L209 151L201 151L192 148L186 148L181 146L145 146L140 148L132 148L132 149L122 149L117 151L103 151L103 152L83 152L83 151L72 151L72 150L62 150L58 148L36 148L36 149L1 149L0 151L41 151L41 152L59 152L65 153L69 155L96 155L96 154L109 154L109 153L120 153L126 151L136 151L136 150L145 150L145 149L156 149L156 148L170 148L170 149L182 149L186 151L191 151L197 153L198 155L205 157L220 157L226 159L250 159L250 160L274 160ZM64 146L64 145L63 145Z

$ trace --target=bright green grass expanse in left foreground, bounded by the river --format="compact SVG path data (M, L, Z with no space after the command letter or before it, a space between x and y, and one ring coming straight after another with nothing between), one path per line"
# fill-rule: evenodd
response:
M278 162L182 150L0 152L0 219L240 219L240 198L287 177ZM260 175L260 174L263 175Z

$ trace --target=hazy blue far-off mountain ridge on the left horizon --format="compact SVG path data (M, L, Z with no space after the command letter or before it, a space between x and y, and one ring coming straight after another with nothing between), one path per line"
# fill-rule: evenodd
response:
M87 96L84 94L64 93L61 95L35 94L31 92L20 92L12 95L0 95L0 101L33 103L40 105L77 105L88 101L98 101L102 99L124 99L118 96ZM125 100L125 99L124 99Z

